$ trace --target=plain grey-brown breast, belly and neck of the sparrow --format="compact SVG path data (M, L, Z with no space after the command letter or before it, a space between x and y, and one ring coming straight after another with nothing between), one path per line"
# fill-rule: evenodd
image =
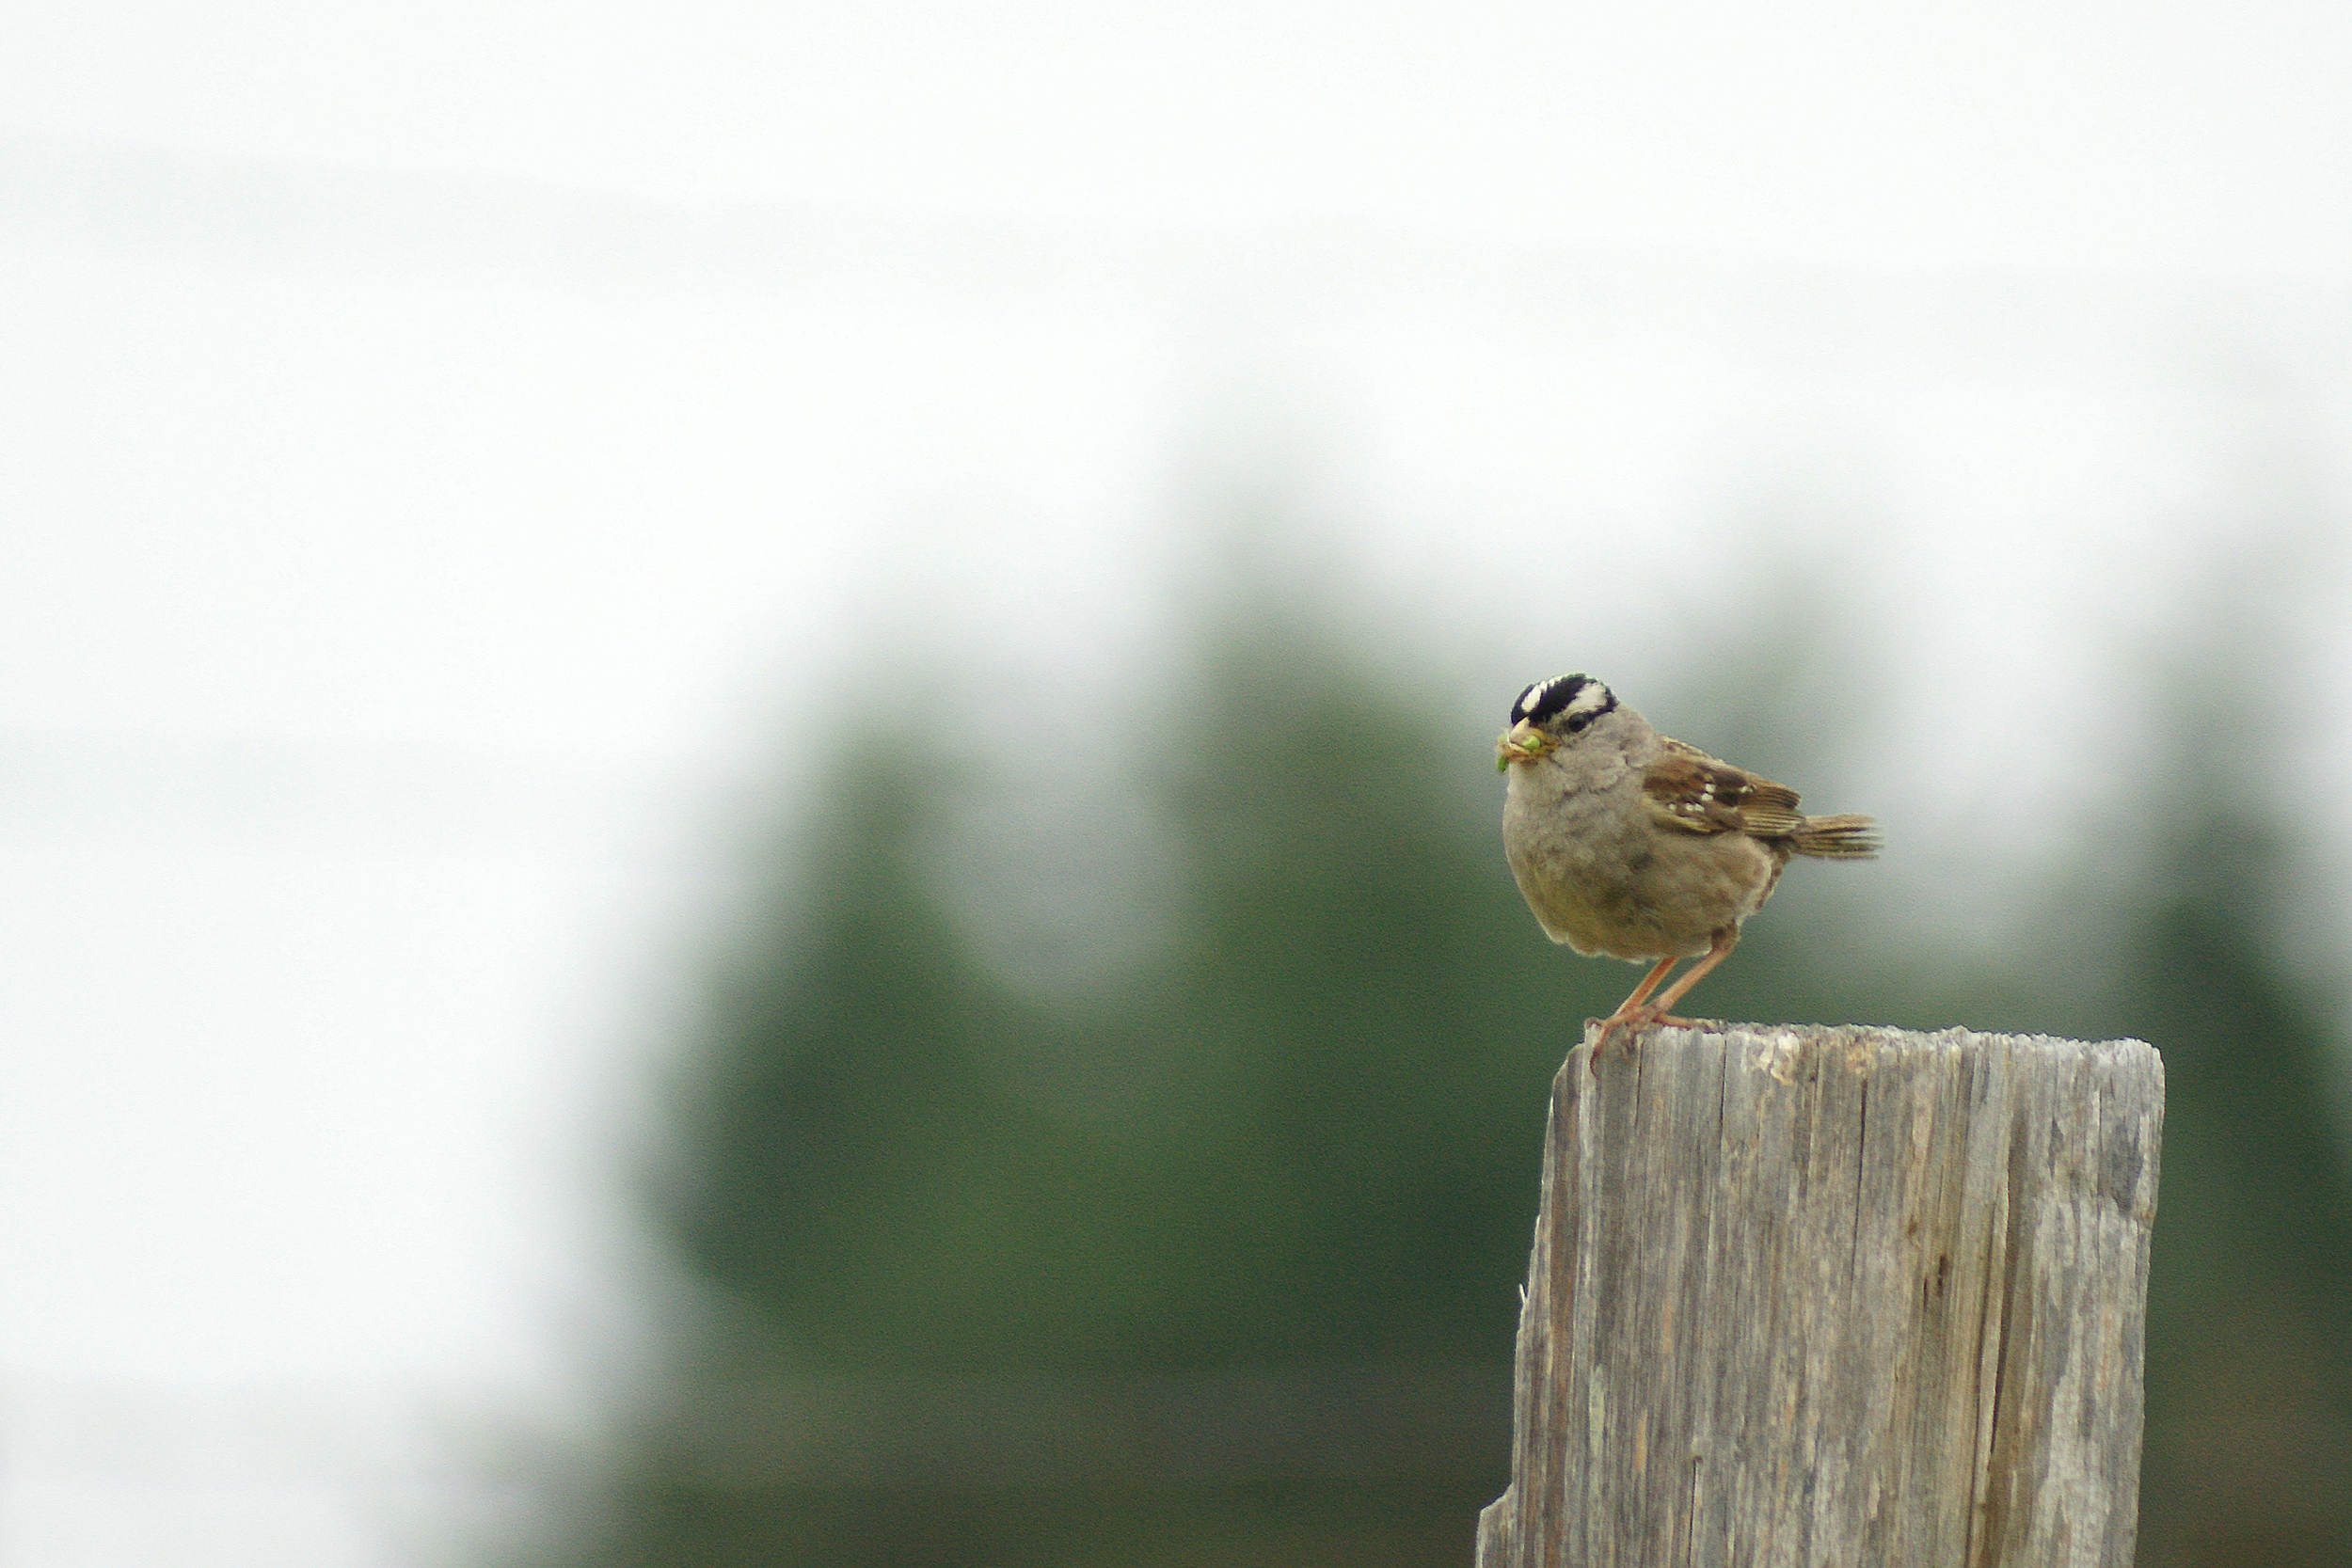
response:
M1682 750L1618 703L1569 745L1508 769L1503 853L1543 933L1585 957L1698 957L1764 907L1792 844L1693 835L1642 809L1651 766Z

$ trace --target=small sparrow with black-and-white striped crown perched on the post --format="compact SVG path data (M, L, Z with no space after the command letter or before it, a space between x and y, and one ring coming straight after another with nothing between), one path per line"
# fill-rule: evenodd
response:
M1792 856L1875 860L1867 816L1806 816L1797 792L1651 729L1590 675L1526 686L1496 738L1503 853L1543 933L1583 957L1649 964L1592 1041L1625 1048L1731 957ZM1682 959L1698 959L1656 999Z

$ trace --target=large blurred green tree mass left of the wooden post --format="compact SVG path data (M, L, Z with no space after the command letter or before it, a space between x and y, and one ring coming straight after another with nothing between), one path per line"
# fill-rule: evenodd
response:
M1178 867L1094 997L1007 990L943 912L953 802L844 750L652 1187L706 1312L557 1556L1468 1561L1545 1084L1630 976L1536 936L1482 738L1367 668L1237 618L1073 755L1155 780ZM1073 1114L1103 1060L1148 1093Z

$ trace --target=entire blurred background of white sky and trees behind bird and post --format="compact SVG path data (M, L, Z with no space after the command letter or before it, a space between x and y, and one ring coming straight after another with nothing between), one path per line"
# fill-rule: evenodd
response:
M9 16L0 1561L1468 1563L1564 670L1886 830L1700 1013L2166 1051L2345 1561L2347 33Z

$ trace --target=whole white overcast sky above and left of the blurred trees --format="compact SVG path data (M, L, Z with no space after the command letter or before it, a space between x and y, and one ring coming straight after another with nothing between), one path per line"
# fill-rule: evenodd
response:
M1661 689L1823 576L1884 682L1839 804L1994 900L2209 635L2246 496L2345 517L2347 42L19 7L0 1394L567 1387L746 802L898 635L990 712L1110 691L1254 454L1310 517L1275 548L1496 705ZM2340 609L2340 559L2293 578ZM12 1561L214 1561L172 1509L99 1542L148 1481L61 1465L0 1486ZM280 1526L219 1561L381 1561Z

